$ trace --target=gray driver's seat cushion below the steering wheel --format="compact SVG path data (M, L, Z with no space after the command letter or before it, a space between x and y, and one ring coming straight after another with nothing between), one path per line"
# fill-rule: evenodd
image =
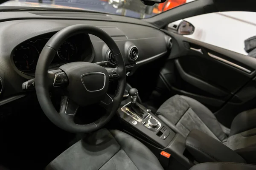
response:
M54 159L46 170L163 170L141 142L119 130L88 134Z

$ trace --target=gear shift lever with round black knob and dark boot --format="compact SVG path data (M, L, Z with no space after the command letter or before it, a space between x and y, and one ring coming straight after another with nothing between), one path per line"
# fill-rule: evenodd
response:
M143 111L140 106L137 104L137 98L139 91L136 88L131 88L129 90L129 95L131 97L131 104L128 106L134 113L140 116L141 119L145 119L148 116L148 113Z

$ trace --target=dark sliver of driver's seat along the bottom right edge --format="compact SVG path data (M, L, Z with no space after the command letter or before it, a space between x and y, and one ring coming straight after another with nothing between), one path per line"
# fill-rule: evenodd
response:
M256 170L256 165L231 162L209 162L196 164L189 170Z

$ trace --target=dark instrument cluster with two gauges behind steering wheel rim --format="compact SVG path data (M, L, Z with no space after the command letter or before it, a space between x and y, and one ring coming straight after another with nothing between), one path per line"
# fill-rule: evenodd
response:
M15 67L24 74L34 76L39 55L52 35L34 37L17 45L12 55ZM62 43L49 68L57 68L68 62L91 62L92 49L88 34L70 37Z

